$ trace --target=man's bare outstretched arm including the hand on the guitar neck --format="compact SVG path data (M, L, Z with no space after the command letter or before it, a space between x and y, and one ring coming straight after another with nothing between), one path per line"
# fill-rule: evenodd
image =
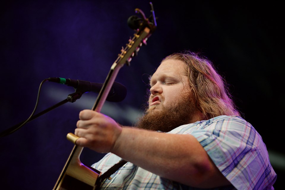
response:
M112 152L161 177L189 186L210 188L230 184L192 135L167 134L121 127L92 110L79 114L75 135L79 146Z

